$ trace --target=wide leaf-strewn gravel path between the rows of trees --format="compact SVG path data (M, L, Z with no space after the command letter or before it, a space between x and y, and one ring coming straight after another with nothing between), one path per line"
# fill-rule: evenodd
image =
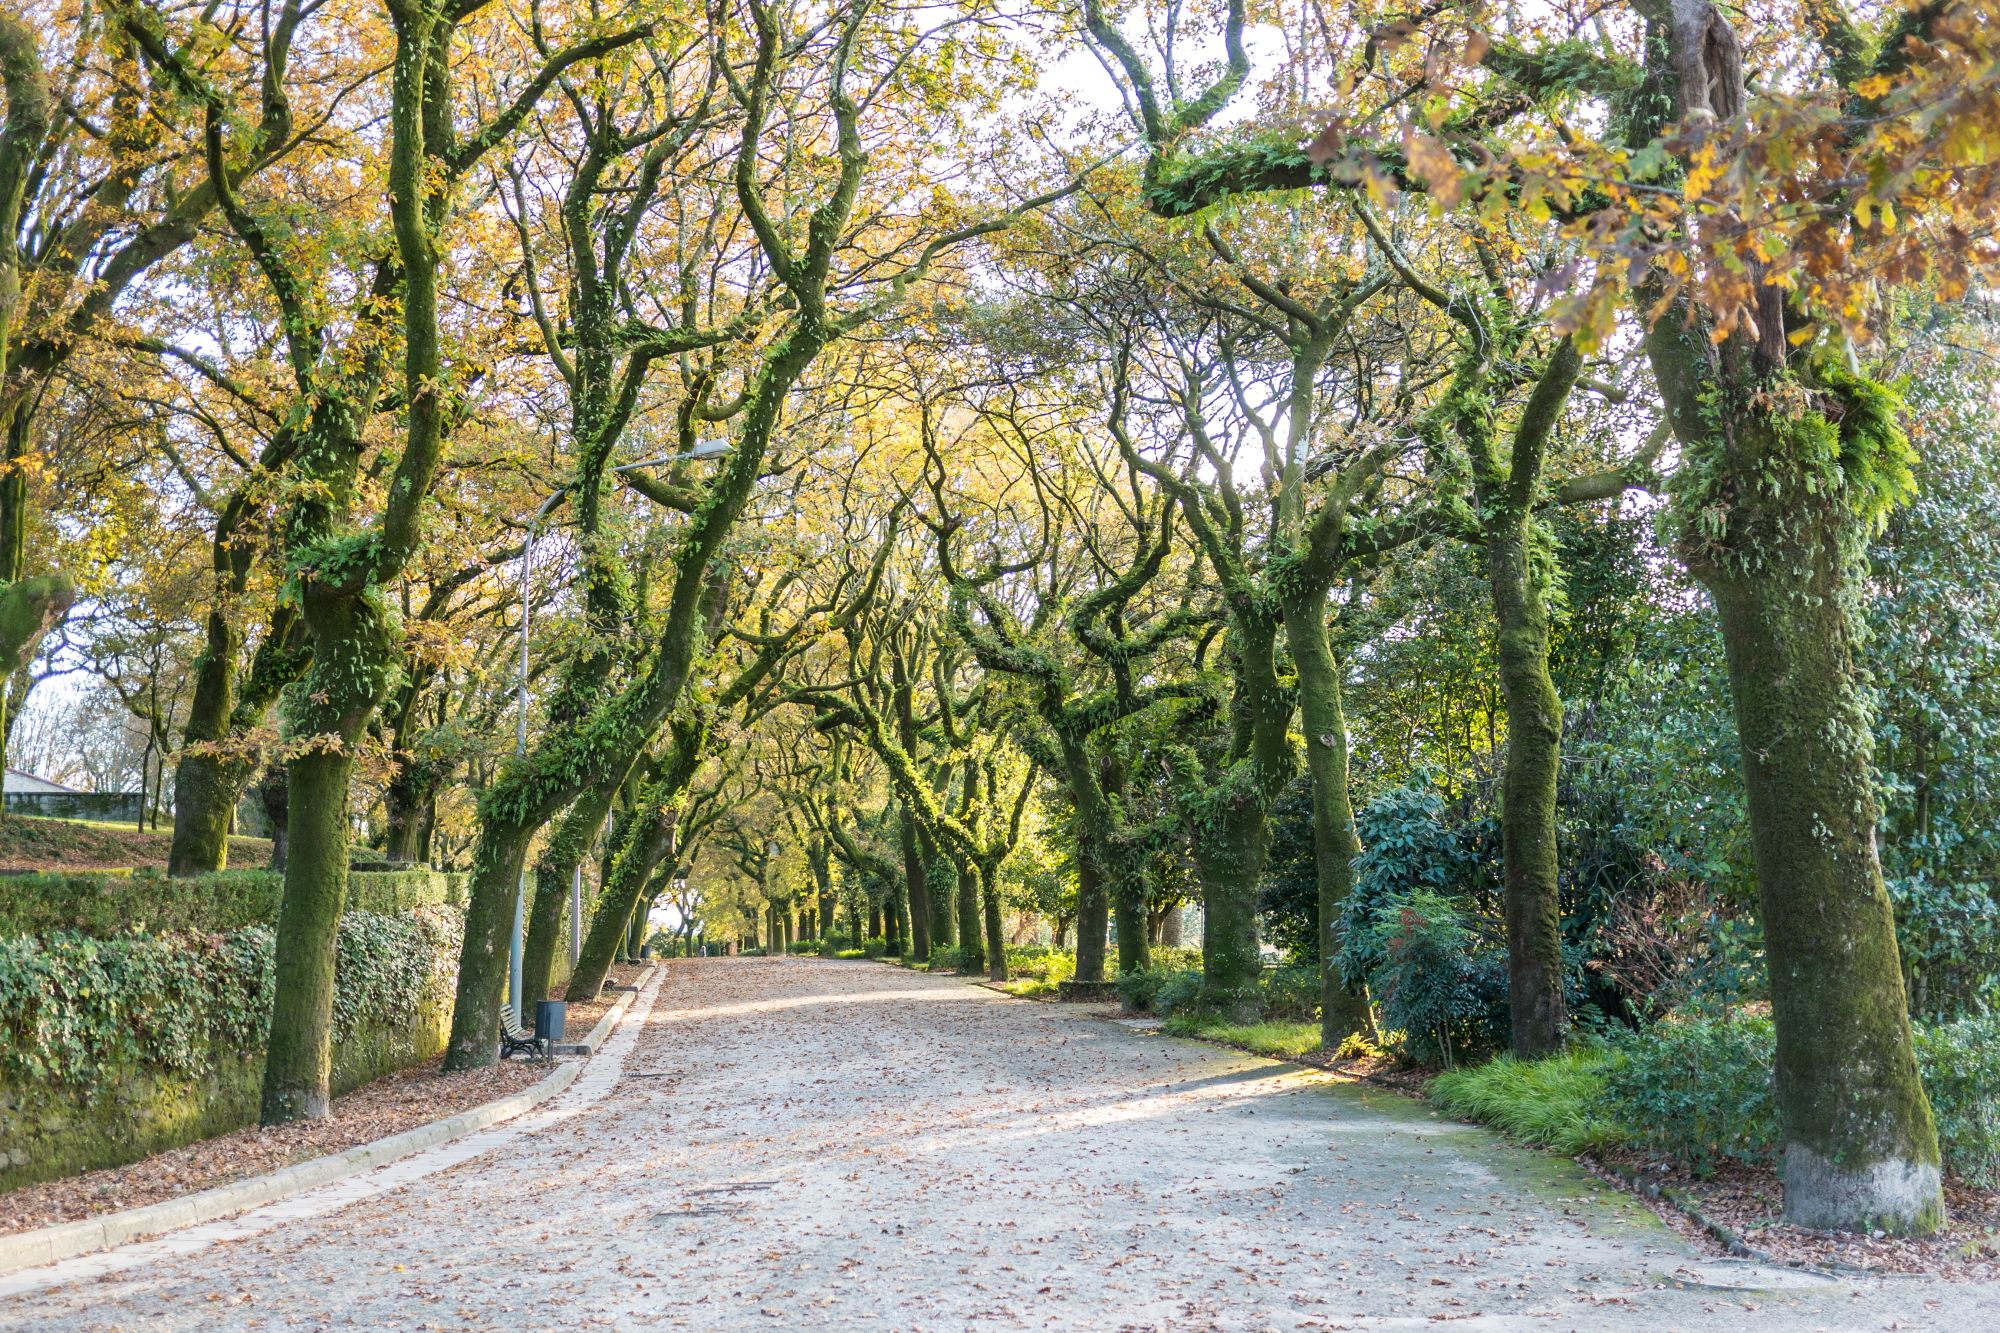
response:
M1094 1013L668 967L616 1083L500 1151L4 1297L0 1327L2000 1327L1990 1287L1704 1259L1566 1163Z

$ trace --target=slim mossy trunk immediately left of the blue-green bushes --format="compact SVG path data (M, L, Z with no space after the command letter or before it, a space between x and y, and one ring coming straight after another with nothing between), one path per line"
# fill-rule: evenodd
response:
M1310 588L1286 600L1286 642L1298 671L1298 715L1312 775L1312 861L1320 911L1320 1045L1336 1049L1350 1033L1374 1033L1368 997L1340 975L1340 915L1354 889L1354 801L1348 791L1348 719L1340 662L1326 638L1326 594Z

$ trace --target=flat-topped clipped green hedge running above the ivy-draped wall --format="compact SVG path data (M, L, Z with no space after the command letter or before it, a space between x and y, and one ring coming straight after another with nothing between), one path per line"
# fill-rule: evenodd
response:
M108 939L142 931L222 935L278 921L284 875L222 871L168 879L160 873L44 873L0 879L0 939L72 931ZM442 871L352 871L348 911L400 915L462 907L466 877Z

